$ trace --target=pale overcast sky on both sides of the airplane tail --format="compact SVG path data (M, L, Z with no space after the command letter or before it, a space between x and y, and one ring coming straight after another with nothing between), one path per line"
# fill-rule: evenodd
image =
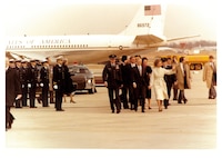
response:
M11 1L6 13L7 36L114 34L130 23L140 7L135 2ZM216 40L214 0L178 1L168 2L164 36L171 39L201 34L201 39Z

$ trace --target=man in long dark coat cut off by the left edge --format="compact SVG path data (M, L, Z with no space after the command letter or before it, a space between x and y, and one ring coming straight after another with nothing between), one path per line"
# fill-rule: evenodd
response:
M6 58L6 130L10 129L13 124L13 116L10 108L14 100L21 98L21 85L16 68L9 67L9 59Z

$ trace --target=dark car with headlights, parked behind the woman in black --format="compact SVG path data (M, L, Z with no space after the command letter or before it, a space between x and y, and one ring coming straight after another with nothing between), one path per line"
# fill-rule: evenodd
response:
M89 93L97 92L94 76L88 67L84 65L71 65L68 68L77 90L88 90Z

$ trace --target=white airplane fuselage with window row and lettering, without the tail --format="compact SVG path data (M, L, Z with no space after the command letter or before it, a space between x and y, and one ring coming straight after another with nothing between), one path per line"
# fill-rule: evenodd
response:
M98 63L111 53L122 56L144 49L145 45L132 43L134 38L114 34L12 38L8 41L7 51L40 60L63 56L71 62Z

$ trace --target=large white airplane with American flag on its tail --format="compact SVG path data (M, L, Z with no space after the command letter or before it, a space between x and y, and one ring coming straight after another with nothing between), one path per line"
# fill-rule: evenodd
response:
M158 43L165 41L165 9L163 4L142 4L119 34L9 37L6 56L40 61L56 61L63 56L69 62L100 63L111 53L121 57L157 49Z

